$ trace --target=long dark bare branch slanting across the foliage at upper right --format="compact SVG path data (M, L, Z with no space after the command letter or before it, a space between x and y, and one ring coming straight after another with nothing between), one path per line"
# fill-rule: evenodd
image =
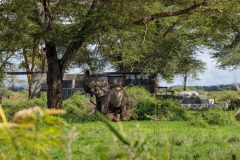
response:
M150 21L154 21L154 20L159 19L159 18L173 17L173 16L184 15L184 14L191 14L191 13L193 13L193 11L197 10L201 6L207 6L206 1L204 1L202 3L198 3L198 4L193 4L192 6L190 6L188 8L178 10L178 11L161 12L161 13L153 14L153 15L150 15L150 16L147 16L147 17L144 17L140 20L135 21L134 24L144 25L145 23L148 23Z

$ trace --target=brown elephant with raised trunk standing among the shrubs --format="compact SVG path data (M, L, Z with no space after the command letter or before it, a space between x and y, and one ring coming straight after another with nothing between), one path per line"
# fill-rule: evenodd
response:
M95 95L96 110L104 115L110 115L112 120L126 119L128 110L128 96L121 86L110 86L103 80L90 80L88 75L84 78L83 87L85 92Z

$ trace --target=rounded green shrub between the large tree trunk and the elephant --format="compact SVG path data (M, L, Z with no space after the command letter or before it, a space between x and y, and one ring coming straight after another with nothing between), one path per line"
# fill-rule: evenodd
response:
M81 122L94 120L95 116L90 114L90 102L80 93L75 93L72 97L64 101L64 109L66 114L63 118L67 122Z

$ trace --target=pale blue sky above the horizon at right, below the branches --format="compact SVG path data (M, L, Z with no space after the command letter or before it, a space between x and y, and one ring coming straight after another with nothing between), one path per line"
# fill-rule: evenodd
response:
M198 58L206 63L206 70L199 74L200 80L190 78L189 86L211 86L220 84L240 83L240 70L220 70L217 68L216 60L205 53L199 53ZM160 82L161 86L182 85L182 78L176 77L173 83Z

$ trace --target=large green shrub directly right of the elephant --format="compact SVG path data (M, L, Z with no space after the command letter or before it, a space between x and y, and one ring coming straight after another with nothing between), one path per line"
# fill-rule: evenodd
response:
M126 87L132 104L134 119L146 120L152 116L167 120L186 120L186 110L174 100L158 100L143 87Z

